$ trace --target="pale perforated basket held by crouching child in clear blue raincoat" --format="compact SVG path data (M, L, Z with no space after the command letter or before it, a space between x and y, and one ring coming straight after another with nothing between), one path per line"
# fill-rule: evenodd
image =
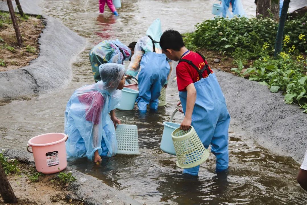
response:
M119 124L115 130L117 154L138 155L138 126Z

